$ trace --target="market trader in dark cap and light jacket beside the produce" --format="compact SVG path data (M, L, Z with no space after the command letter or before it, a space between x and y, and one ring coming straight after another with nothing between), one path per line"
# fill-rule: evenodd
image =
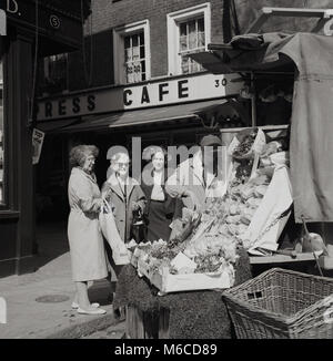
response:
M226 182L218 164L222 155L222 141L216 135L205 135L193 157L182 162L165 184L171 197L181 198L185 207L201 210L211 197L223 196Z

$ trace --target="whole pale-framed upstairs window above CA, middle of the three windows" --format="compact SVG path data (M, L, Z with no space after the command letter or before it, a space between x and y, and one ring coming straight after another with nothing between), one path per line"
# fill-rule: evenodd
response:
M148 20L114 29L115 83L150 79L150 34Z

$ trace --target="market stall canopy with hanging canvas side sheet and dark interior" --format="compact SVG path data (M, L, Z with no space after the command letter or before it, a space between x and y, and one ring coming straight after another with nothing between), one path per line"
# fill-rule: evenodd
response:
M329 256L332 256L329 180L332 177L332 38L315 33L245 34L234 37L228 44L210 44L209 49L192 58L213 73L236 71L242 74L248 85L246 95L254 104L252 125L268 131L289 128L292 228L297 228L302 236L300 225L306 223L312 231L323 236L330 255L322 258L321 264L329 267ZM222 131L226 143L241 130L232 131L232 134L229 130Z

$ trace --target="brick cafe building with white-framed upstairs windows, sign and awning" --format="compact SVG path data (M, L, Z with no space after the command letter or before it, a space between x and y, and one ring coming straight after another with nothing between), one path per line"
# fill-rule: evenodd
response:
M83 52L46 58L40 69L38 126L46 142L37 193L42 217L67 217L67 158L74 144L100 148L101 184L112 145L131 152L132 138L140 137L142 149L190 146L220 126L245 125L224 104L239 93L236 76L215 76L189 56L224 40L224 7L221 0L92 2ZM51 148L59 149L52 159Z

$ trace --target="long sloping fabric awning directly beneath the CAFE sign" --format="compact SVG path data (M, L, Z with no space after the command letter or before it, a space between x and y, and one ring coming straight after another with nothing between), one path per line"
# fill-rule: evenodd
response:
M59 132L85 132L101 128L121 128L150 123L181 121L203 117L210 113L234 114L235 110L226 99L176 104L144 110L124 111L111 114L94 115L59 130ZM229 112L229 113L228 113ZM58 132L58 131L57 131Z

